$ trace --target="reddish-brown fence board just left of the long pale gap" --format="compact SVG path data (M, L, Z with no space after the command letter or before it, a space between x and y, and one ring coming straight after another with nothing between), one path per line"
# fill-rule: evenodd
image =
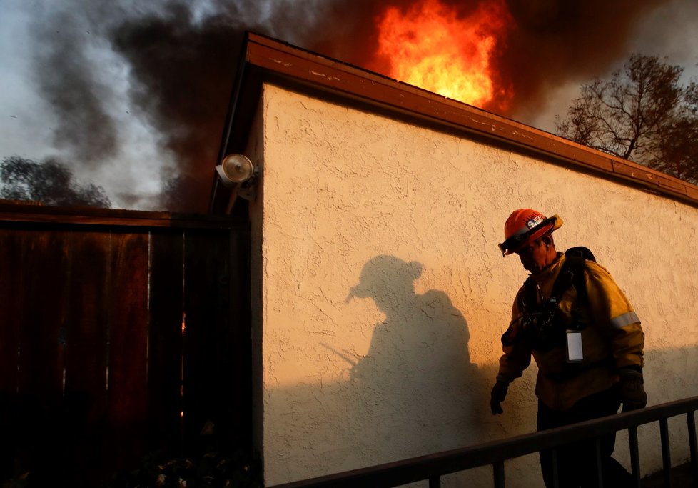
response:
M111 234L111 269L103 452L112 469L127 469L146 454L148 234Z

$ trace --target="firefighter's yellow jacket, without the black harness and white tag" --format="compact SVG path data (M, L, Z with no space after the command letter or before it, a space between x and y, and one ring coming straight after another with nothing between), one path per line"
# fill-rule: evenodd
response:
M564 262L565 255L558 253L550 267L533 277L539 299L550 298ZM502 337L499 374L510 380L520 377L533 356L538 366L535 394L555 410L569 409L580 399L612 387L619 380L619 368L644 364L644 332L627 297L600 264L587 260L584 274L587 299L578 300L577 290L567 289L560 297L561 313L555 324L575 329L575 320L582 322L581 363L567 362L564 343L545 352L527 344L522 333L524 311L520 310L523 287L512 307L510 327Z

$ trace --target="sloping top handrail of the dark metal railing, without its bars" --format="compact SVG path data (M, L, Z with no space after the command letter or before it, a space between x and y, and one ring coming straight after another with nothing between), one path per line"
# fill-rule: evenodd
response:
M661 419L688 414L698 410L698 397L677 400L624 414L580 422L544 432L522 434L509 439L461 447L450 451L428 454L378 466L328 474L298 482L278 484L270 488L339 488L339 487L394 487L442 476L465 469L486 466L506 459L559 447L568 442L599 437L610 432L638 427Z

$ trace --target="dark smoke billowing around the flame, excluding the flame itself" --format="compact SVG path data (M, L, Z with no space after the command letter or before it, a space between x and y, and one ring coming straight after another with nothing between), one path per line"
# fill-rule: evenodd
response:
M243 32L380 71L376 19L387 6L407 8L414 1L161 1L143 10L126 0L100 9L74 0L74 8L39 29L45 47L36 58L38 80L59 121L56 144L85 165L120 150L123 129L109 108L114 96L91 54L106 46L127 66L131 116L146 121L173 154L174 161L162 164L168 191L160 206L205 212ZM487 0L443 3L465 16L478 1ZM513 91L502 115L525 116L555 86L605 74L627 56L637 22L663 3L506 0L512 22L493 59L498 81ZM64 35L56 41L57 28Z

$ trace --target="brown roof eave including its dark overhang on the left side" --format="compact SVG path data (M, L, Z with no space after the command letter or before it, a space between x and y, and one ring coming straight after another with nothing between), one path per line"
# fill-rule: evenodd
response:
M226 154L240 152L248 139L259 91L264 81L290 82L313 91L328 92L349 103L368 104L381 111L425 119L450 129L467 131L500 144L513 144L548 159L572 165L582 171L626 181L658 194L698 205L698 187L632 161L605 154L559 136L505 117L491 114L460 101L404 84L379 74L299 49L290 44L248 33L236 87L226 121L218 161ZM219 213L229 205L230 191L214 181L211 211Z

